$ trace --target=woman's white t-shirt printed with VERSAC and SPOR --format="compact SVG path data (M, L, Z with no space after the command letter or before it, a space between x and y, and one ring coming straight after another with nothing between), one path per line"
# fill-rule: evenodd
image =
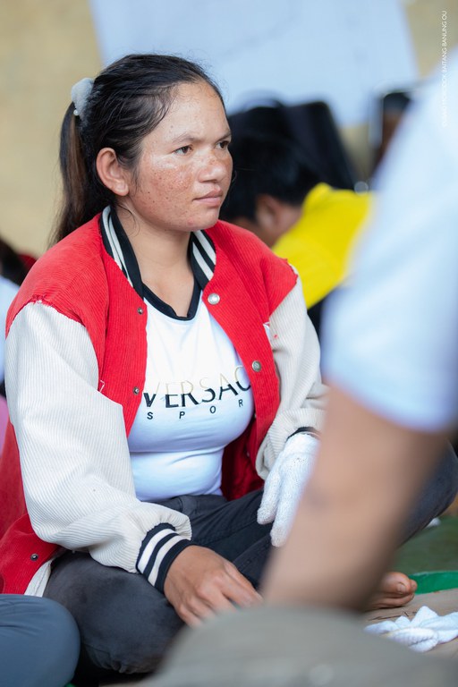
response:
M253 414L248 375L201 300L191 319L147 307L146 382L129 435L137 496L220 494L225 445Z

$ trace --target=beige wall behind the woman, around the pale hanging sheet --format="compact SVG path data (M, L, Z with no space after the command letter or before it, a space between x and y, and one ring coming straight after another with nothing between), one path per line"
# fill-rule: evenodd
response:
M440 60L444 9L449 48L458 45L458 0L404 4L420 73L426 75ZM47 247L58 188L58 132L70 88L99 68L87 0L0 4L0 234L18 250L39 254ZM344 139L364 176L367 127L344 131Z

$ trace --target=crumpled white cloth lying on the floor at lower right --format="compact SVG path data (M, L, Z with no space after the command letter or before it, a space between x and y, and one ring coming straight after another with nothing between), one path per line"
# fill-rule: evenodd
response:
M390 640L424 652L458 637L458 613L437 615L428 606L421 606L411 620L400 615L396 620L368 625L366 631L370 634L384 634Z

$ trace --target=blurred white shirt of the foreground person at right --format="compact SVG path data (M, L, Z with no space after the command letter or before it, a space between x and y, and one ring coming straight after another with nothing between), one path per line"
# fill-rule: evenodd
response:
M386 419L437 431L458 420L458 53L406 116L378 182L352 277L325 315L324 372Z

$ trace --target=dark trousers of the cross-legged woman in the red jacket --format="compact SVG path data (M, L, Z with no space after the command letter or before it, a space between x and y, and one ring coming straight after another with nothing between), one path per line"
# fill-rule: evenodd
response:
M442 513L457 490L458 461L450 448L412 510L403 539ZM270 551L270 526L256 520L261 497L260 490L229 502L223 496L180 496L163 505L189 516L195 544L225 556L258 586ZM182 627L164 595L141 575L98 564L88 554L69 552L59 558L45 596L75 617L83 647L81 666L103 671L154 670Z

